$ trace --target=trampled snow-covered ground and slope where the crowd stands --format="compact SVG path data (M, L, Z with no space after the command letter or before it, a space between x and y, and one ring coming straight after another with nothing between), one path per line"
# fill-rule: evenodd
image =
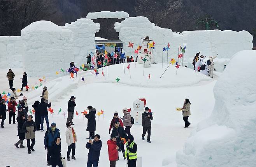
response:
M130 72L126 66L130 64ZM107 140L110 138L108 133L110 120L114 112L118 111L119 116L123 117L122 108L132 108L132 103L138 97L144 97L147 100L147 105L153 111L153 121L151 128L151 141L147 143L142 141L142 127L133 126L131 133L138 144L138 157L142 157L142 167L175 167L175 154L176 151L181 150L184 142L188 139L191 132L195 131L196 124L203 119L210 116L214 108L214 94L213 87L216 83L214 80L195 73L194 70L189 68L180 67L177 71L173 65L165 72L162 78L161 74L167 67L161 68L161 64L152 64L151 68L143 69L142 64L125 63L109 66L109 76L107 75L107 67L103 68L105 78L102 76L102 69L99 69L98 77L95 76L94 71L83 71L77 73L75 79L70 76L59 77L56 79L49 79L44 85L47 86L49 91L49 101L52 102L54 114L49 115L49 123L56 122L56 127L60 129L61 134L61 152L62 155L67 156L67 144L65 141L66 118L63 113L67 113L67 104L70 96L75 96L75 111L79 112L79 117L74 115L74 127L77 132L78 142L76 143L75 157L77 160L67 162L68 167L85 166L87 163L88 150L85 144L88 141L86 138L89 132L86 131L87 119L82 117L81 112L87 106L91 105L97 111L104 111L104 118L96 117L96 132L100 134L102 140L102 150L100 152L99 167L109 166ZM124 69L125 68L125 74ZM143 76L144 70L144 76ZM2 70L2 71L8 71ZM14 69L16 78L14 80L14 87L16 89L21 85L21 69ZM0 86L2 92L8 92L8 81L6 73L1 74ZM151 78L147 79L148 75ZM20 75L20 76L19 76ZM29 74L28 74L29 75ZM218 74L219 75L219 74ZM81 80L84 77L85 82ZM117 84L115 78L119 77L121 80ZM28 85L38 81L39 78L28 79ZM47 78L46 78L47 79ZM51 81L50 81L51 80ZM3 89L2 89L3 88ZM29 107L36 100L40 100L42 87L29 92L23 92L28 97ZM191 101L191 116L189 122L191 126L184 129L184 121L182 120L182 113L176 111L175 108L182 107L184 99L188 98ZM62 109L58 116L58 110ZM26 148L17 149L14 143L18 141L17 124L8 124L5 120L5 128L0 129L0 141L2 142L0 166L33 166L44 167L46 166L46 153L44 150L44 132L36 132L36 143L34 146L35 152L28 155ZM26 141L24 144L26 146ZM121 153L119 153L120 157ZM125 167L126 161L123 158L117 161L117 167Z

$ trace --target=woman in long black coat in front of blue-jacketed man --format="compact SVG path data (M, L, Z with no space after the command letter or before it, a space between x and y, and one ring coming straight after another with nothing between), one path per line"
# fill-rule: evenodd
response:
M52 167L63 167L61 162L61 145L60 145L60 137L56 137L53 141L51 148L51 160L50 163Z

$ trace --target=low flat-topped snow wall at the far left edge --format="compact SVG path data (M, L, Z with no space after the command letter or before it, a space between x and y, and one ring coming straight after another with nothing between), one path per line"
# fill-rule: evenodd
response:
M0 67L22 68L23 43L21 37L0 36Z

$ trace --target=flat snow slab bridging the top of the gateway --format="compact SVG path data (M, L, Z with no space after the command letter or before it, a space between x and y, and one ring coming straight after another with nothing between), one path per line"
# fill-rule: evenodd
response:
M86 16L87 19L109 19L109 18L117 18L122 19L129 17L129 14L124 11L110 12L110 11L101 11L101 12L89 12Z

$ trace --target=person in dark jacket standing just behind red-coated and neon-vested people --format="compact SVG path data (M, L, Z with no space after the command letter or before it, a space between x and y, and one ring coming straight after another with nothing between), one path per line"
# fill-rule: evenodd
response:
M124 159L126 159L125 154L124 154L124 151L125 151L124 144L126 143L127 136L126 136L126 132L125 132L124 128L119 125L120 125L119 120L115 120L114 128L112 130L111 135L118 136L116 139L116 145L119 146L119 151L122 151L123 157L124 157ZM118 156L117 160L119 160L119 156Z

